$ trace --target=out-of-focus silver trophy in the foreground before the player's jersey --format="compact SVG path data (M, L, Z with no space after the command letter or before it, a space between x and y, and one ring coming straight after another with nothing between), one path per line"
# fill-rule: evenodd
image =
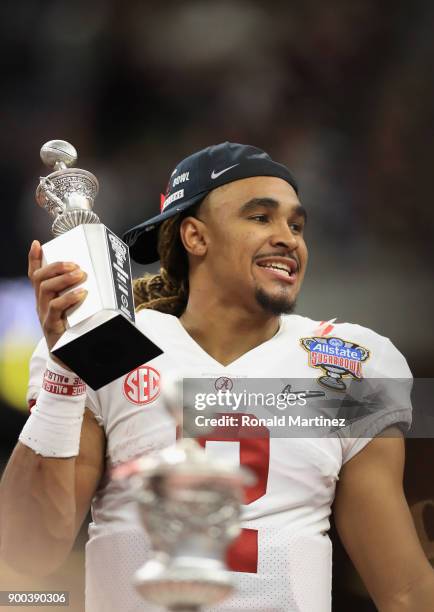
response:
M179 424L173 404L167 407ZM184 409L187 434L191 418ZM140 595L178 612L198 612L228 597L234 583L225 554L240 534L243 487L254 483L253 474L211 461L195 440L184 438L115 468L114 477L130 479L154 550L133 577Z

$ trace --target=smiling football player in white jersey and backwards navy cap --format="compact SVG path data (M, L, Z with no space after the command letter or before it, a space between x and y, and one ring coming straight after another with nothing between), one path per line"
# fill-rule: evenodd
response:
M160 394L171 376L231 384L246 377L310 379L332 398L362 376L411 378L387 338L292 314L308 259L305 221L287 168L255 147L223 143L180 162L161 213L125 235L138 262L161 260L160 274L136 281L135 297L138 326L164 352L74 399L50 395L42 380L45 368L71 377L49 349L64 330L64 311L85 298L60 292L82 281L83 272L65 263L41 267L40 245L32 245L29 276L45 339L31 363L29 399L37 398L37 408L2 483L1 550L12 565L32 572L58 566L92 500L87 609L153 609L130 583L149 554L134 500L102 476L174 442ZM351 349L352 359L340 356L341 348L345 355ZM411 420L408 387L384 409L363 437L237 443L237 456L257 482L246 491L244 530L231 560L239 589L215 610L328 612L333 501L342 541L380 612L434 609L433 571L402 489L399 428ZM392 435L376 437L386 431ZM224 457L229 447L213 441L205 448Z

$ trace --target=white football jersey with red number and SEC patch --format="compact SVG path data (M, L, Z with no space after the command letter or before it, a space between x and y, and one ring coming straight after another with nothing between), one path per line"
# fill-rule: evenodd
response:
M311 389L321 388L332 397L342 392L336 387L355 379L411 379L390 340L359 325L321 326L298 315L284 316L273 338L227 367L207 354L174 316L142 310L137 325L163 354L98 392L88 390L87 406L107 438L107 474L115 465L175 442L176 427L162 395L174 375L283 383L310 379ZM29 400L39 392L46 357L41 342L31 361ZM270 437L265 445L251 440L248 448L243 441L205 444L208 453L235 458L258 478L248 491L243 533L231 559L237 591L209 610L329 612L332 547L327 532L339 471L385 427L410 421L407 386L357 437ZM151 553L136 503L119 481L103 479L92 502L92 519L86 545L87 612L160 610L143 602L131 586L132 575Z

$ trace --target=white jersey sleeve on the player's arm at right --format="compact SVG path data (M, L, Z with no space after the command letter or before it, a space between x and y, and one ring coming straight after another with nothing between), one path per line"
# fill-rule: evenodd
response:
M363 410L339 431L343 464L386 428L394 425L405 432L411 426L413 377L410 368L388 338L382 338L382 347L372 377L354 381L349 387L352 396L359 396Z

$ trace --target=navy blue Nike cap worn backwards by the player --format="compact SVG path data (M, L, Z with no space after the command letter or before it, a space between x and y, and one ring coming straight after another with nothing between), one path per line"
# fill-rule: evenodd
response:
M137 263L158 261L158 230L163 221L198 204L216 187L252 176L276 176L298 193L297 183L283 164L250 145L223 142L193 153L172 172L159 215L136 225L123 235Z

